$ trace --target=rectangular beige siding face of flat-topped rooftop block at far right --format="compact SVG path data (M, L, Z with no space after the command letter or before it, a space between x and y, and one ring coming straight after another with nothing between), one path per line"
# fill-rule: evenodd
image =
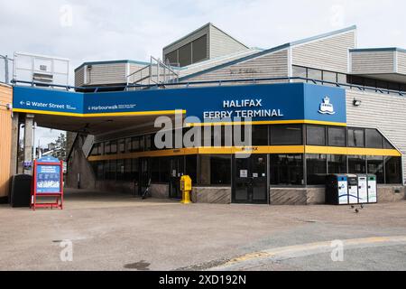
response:
M357 74L393 73L394 51L353 51L351 67Z

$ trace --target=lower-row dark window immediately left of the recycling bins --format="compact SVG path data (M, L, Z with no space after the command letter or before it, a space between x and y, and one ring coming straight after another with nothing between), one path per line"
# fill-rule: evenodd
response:
M306 167L308 184L317 185L326 183L327 156L326 154L307 154Z

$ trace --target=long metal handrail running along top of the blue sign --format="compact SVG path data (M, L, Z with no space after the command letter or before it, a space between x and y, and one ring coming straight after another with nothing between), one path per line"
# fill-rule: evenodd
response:
M105 86L105 87L74 87L74 86L65 86L65 85L57 85L57 84L44 84L42 82L33 82L33 81L23 81L23 80L16 80L13 79L11 82L15 85L18 83L22 84L31 84L32 86L38 85L41 87L49 87L49 88L61 88L66 90L88 90L88 92L97 92L98 90L103 89L151 89L151 88L169 88L169 87L185 87L189 88L194 85L204 85L204 84L217 84L221 86L224 83L252 83L257 84L258 82L263 81L292 81L292 80L303 80L303 81L311 81L314 84L328 84L332 86L336 86L337 88L348 88L348 89L359 89L360 91L367 91L372 90L374 92L381 92L382 94L398 94L401 97L406 97L406 91L401 90L390 90L390 89L377 89L372 87L364 87L355 84L349 83L339 83L339 82L332 82L326 80L318 80L318 79L307 79L302 77L281 77L281 78L259 78L259 79L222 79L222 80L200 80L200 81L187 81L187 82L176 82L176 83L156 83L156 84L129 84L124 86Z

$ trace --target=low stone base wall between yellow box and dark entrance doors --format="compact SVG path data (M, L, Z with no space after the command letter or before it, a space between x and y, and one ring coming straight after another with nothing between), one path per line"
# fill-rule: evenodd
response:
M191 200L209 204L230 204L231 187L194 187L191 192Z

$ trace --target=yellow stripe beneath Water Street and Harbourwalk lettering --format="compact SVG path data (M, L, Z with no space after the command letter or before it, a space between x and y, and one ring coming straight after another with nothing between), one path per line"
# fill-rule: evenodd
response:
M61 117L143 117L143 116L161 116L161 115L175 115L180 110L152 110L152 111L134 111L134 112L112 112L112 113L98 113L98 114L78 114L72 112L55 112L48 110L34 110L14 108L14 112L23 112L37 115L51 115ZM181 110L182 114L186 114L186 110Z

